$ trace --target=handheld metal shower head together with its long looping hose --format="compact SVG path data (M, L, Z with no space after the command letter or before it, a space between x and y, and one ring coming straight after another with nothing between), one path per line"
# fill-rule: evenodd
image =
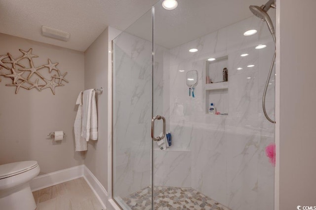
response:
M275 28L273 26L273 23L272 23L272 20L271 20L270 16L267 13L267 11L270 8L276 8L275 0L269 0L266 4L263 4L260 7L256 6L256 5L249 6L250 11L255 16L259 17L262 21L265 21L267 23L268 29L269 29L269 31L270 31L270 33L272 35L273 41L274 41L275 46L276 46ZM275 53L274 53L273 58L272 58L272 63L271 63L271 66L270 66L269 75L268 75L267 82L266 82L265 89L263 91L263 96L262 96L263 113L266 116L267 120L270 121L271 123L276 123L276 121L272 120L268 116L268 113L266 111L266 94L267 94L267 89L268 89L269 81L270 81L270 78L271 78L272 70L273 70L273 67L275 65L275 60L276 60L276 48L275 48Z

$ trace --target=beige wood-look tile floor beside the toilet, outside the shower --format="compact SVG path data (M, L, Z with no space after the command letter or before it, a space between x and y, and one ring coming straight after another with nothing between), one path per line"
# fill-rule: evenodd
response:
M33 192L36 210L103 210L83 177Z

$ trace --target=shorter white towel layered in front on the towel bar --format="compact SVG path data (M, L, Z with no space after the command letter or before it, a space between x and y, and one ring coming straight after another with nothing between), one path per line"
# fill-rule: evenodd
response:
M83 91L81 136L86 141L98 139L98 117L94 89Z

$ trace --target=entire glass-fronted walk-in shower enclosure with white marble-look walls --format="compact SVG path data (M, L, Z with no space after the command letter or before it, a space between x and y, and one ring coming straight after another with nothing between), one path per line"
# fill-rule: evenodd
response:
M121 209L274 209L266 156L274 124L262 95L275 45L249 10L264 3L178 0L166 10L160 0L113 40L112 195ZM275 10L268 14L275 22ZM256 33L245 36L249 30ZM265 102L272 119L274 76L273 69ZM208 113L210 103L217 114ZM158 115L165 123L157 117L152 133ZM152 138L163 128L169 147Z

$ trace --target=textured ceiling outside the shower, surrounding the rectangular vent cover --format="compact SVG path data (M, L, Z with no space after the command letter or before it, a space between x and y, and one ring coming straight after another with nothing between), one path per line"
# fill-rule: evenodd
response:
M125 29L157 0L0 0L0 33L85 51L106 29ZM71 34L41 36L45 25Z

